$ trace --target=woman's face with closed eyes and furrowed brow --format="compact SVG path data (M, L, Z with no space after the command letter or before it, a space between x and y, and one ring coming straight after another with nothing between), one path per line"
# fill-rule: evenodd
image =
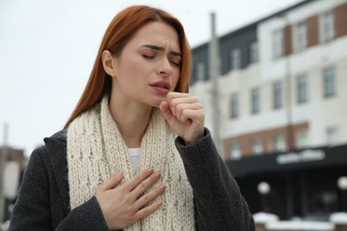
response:
M181 66L181 47L176 31L164 22L149 22L113 57L112 95L125 103L158 107L173 91Z

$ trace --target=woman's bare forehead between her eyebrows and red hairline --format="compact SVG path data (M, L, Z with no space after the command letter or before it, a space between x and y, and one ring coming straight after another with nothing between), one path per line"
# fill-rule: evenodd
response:
M129 44L139 46L154 44L177 52L181 51L176 30L162 21L146 23L134 34Z

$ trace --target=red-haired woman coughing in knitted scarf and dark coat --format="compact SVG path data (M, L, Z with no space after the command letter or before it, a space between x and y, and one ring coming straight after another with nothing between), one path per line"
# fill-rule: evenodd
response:
M65 129L30 156L10 230L254 230L188 93L182 24L119 12Z

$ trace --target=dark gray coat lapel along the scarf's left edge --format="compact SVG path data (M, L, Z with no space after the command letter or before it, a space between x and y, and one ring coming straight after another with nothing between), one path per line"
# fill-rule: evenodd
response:
M61 130L50 138L45 138L44 143L50 155L52 171L57 180L61 200L66 209L70 211L69 203L69 179L68 179L68 161L67 161L67 132L68 129Z

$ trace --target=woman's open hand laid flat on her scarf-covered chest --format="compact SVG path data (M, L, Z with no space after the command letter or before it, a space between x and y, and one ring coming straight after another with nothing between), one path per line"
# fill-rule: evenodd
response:
M152 202L164 192L164 185L142 195L160 179L159 172L149 168L138 173L124 185L118 186L122 179L122 173L111 177L95 195L109 229L128 227L156 211L162 204L160 201Z

